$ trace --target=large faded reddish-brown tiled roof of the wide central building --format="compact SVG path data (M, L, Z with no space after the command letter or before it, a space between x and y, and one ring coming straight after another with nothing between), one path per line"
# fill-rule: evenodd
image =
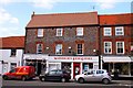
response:
M98 24L98 12L32 14L25 28L51 28Z

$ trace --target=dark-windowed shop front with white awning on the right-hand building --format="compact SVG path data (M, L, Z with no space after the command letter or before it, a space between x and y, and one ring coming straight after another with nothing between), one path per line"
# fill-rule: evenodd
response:
M119 73L120 76L133 76L133 64L129 56L103 56L103 69L112 75Z

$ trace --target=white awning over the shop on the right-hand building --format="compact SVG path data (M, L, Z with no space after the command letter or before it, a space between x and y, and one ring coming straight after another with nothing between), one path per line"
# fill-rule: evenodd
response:
M104 63L130 63L131 57L129 56L103 56Z

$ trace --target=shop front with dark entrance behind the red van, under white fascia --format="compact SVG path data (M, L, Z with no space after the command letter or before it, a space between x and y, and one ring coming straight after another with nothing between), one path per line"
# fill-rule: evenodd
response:
M39 76L47 70L47 59L48 55L24 54L23 65L35 67L35 75Z

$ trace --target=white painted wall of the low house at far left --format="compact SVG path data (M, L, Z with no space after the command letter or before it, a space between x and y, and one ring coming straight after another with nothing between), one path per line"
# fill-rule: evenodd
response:
M6 64L0 62L0 74L9 72L11 68L11 63L17 63L17 66L22 65L23 50L17 50L16 56L10 56L11 50L0 50L0 61L3 61Z

